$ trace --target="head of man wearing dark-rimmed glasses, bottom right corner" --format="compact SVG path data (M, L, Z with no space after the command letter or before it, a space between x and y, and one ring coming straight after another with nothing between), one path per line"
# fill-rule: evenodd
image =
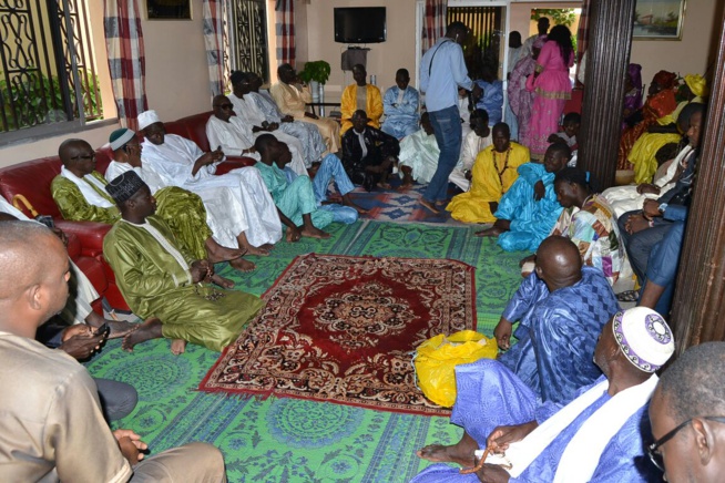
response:
M647 451L668 482L725 479L725 342L687 349L662 374L650 421Z

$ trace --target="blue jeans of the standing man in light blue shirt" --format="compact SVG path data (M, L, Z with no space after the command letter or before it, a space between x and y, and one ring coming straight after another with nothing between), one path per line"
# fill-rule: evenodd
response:
M448 198L448 176L461 155L462 131L461 116L457 105L430 112L429 115L440 155L438 156L438 168L423 193L423 199L435 203Z

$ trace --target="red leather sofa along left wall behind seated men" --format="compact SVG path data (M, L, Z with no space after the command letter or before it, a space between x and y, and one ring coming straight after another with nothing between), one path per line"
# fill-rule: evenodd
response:
M206 140L206 121L211 113L195 114L177 121L165 123L171 134L191 138L204 151L208 151ZM113 153L110 147L102 147L95 153L95 169L103 174L111 163ZM248 157L227 158L217 167L217 174L232 168L251 166L255 163ZM98 292L105 297L111 307L129 310L119 287L115 285L113 270L103 258L103 237L111 229L111 225L93 222L69 222L62 218L55 202L50 193L50 184L60 174L61 162L58 156L41 157L25 161L12 166L0 168L0 194L9 202L16 195L24 196L33 209L40 215L53 217L55 226L69 235L68 251L71 259L89 277ZM20 206L28 216L29 209ZM100 301L94 309L101 309Z

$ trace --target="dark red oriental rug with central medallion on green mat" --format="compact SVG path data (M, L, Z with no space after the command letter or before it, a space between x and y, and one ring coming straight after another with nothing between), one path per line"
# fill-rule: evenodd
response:
M411 357L476 330L474 268L461 261L304 255L200 390L448 415L416 387Z

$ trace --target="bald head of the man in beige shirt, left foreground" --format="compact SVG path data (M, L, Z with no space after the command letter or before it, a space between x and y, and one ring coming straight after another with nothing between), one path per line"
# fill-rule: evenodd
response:
M3 222L0 229L0 330L28 337L65 305L68 253L34 222Z

